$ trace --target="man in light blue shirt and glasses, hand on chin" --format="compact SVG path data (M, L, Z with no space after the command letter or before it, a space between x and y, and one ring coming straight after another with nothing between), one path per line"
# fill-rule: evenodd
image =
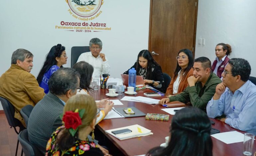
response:
M256 134L256 86L249 81L251 66L242 58L228 61L221 74L223 82L208 102L208 117L226 115L221 121L239 130Z

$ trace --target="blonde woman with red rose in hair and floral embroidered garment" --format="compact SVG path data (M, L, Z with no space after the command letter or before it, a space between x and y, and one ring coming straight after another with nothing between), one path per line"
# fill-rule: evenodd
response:
M92 97L82 94L71 97L64 106L63 116L61 115L64 126L53 132L47 143L45 155L103 156L98 145L87 138L91 132L94 138L97 114L98 109Z

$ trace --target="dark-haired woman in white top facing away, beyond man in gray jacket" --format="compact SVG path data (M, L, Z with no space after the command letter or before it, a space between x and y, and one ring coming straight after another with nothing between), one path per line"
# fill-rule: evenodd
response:
M90 88L90 82L92 79L93 67L85 61L77 62L72 67L80 74L80 88L77 89L76 94L87 94ZM113 102L108 99L102 99L99 102L96 102L98 108L104 108L99 112L96 119L96 124L99 123L107 114L111 111L113 107Z

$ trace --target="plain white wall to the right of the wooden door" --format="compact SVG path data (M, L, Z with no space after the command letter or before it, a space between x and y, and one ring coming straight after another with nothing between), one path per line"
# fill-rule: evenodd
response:
M199 0L195 58L215 59L215 46L228 43L232 47L229 58L249 61L251 76L256 76L256 1L254 0ZM198 44L205 39L205 45Z

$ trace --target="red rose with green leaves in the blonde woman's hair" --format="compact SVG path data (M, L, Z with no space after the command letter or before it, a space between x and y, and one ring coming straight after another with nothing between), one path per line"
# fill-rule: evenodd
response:
M81 118L83 117L84 112L85 109L76 109L74 112L67 111L64 115L60 115L65 128L68 129L72 136L77 132L78 126L82 124Z

